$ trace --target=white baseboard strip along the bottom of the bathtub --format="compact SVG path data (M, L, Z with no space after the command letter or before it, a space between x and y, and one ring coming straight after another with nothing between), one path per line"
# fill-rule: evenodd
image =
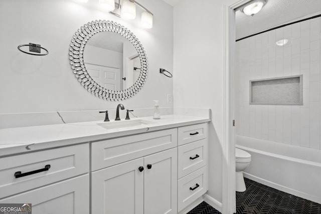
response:
M305 192L301 192L301 191L298 191L298 190L295 190L295 189L292 189L292 188L289 188L289 187L286 187L286 186L271 182L269 180L265 180L263 178L255 176L255 175L246 173L244 171L243 171L243 176L246 177L246 178L249 178L251 180L254 180L254 181L258 182L258 183L262 183L262 184L264 184L266 186L270 186L272 188L278 189L280 191L283 191L283 192L286 192L286 193L289 193L289 194L293 194L295 196L302 197L302 198L314 201L316 203L321 203L321 198L320 197L316 197L314 195L310 195L310 194L307 194Z

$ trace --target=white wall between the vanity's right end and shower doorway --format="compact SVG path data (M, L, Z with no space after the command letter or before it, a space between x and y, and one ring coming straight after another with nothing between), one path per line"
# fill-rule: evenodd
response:
M174 107L210 108L209 191L222 202L223 5L182 0L174 7ZM201 9L201 10L199 10Z

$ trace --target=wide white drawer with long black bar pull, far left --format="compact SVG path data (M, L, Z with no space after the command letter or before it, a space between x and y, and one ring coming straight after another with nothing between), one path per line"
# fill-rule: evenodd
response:
M87 173L89 144L4 157L0 158L0 163L0 198L3 198ZM30 174L16 178L19 171L21 175Z

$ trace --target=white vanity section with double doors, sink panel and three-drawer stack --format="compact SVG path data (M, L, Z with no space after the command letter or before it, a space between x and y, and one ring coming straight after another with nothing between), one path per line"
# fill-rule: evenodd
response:
M91 214L186 213L207 191L207 123L91 144Z

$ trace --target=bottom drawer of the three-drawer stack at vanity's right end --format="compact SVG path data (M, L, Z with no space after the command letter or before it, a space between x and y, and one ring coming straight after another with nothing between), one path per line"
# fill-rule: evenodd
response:
M178 180L178 211L207 191L206 166Z

